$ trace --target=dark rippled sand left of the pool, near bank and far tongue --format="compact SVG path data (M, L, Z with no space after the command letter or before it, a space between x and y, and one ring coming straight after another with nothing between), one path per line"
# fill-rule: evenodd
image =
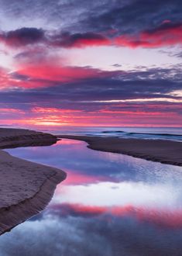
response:
M57 137L31 130L0 129L0 148L49 146ZM0 234L39 213L53 196L64 171L25 161L0 150Z

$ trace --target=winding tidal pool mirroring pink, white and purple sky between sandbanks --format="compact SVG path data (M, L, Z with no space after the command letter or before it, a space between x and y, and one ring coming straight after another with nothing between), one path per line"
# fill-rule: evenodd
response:
M85 145L8 150L68 176L43 213L0 237L0 256L181 256L182 168Z

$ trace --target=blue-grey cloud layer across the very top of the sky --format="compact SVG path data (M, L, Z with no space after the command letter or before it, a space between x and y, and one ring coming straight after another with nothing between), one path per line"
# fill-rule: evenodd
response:
M123 33L139 33L155 29L163 22L181 22L180 0L104 0L101 2L68 0L0 0L2 16L25 21L39 20L43 29L69 31L69 33L108 33L109 36ZM35 22L37 24L38 22ZM3 28L2 28L3 29Z

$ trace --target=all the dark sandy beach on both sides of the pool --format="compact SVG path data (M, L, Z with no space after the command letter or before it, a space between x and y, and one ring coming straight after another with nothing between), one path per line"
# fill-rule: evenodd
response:
M167 140L121 139L40 133L32 130L0 129L0 149L49 146L57 138L84 140L93 150L128 154L164 164L182 166L182 144ZM12 157L0 150L0 234L39 213L53 196L64 171Z

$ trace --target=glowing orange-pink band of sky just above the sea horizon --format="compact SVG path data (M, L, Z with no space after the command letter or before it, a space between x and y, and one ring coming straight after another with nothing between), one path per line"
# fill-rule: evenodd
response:
M117 105L116 105L117 106ZM157 107L156 104L154 105ZM118 108L119 106L117 106ZM125 107L125 106L123 106ZM110 110L100 109L98 111L83 111L78 109L58 109L33 107L31 111L21 109L0 108L2 125L14 125L23 127L33 127L34 129L43 127L59 128L62 126L133 126L133 127L181 127L182 119L178 112L168 110L170 119L166 118L167 113L163 112L163 106L157 111L149 112L140 110ZM164 109L165 110L165 109ZM4 119L5 118L5 119Z

